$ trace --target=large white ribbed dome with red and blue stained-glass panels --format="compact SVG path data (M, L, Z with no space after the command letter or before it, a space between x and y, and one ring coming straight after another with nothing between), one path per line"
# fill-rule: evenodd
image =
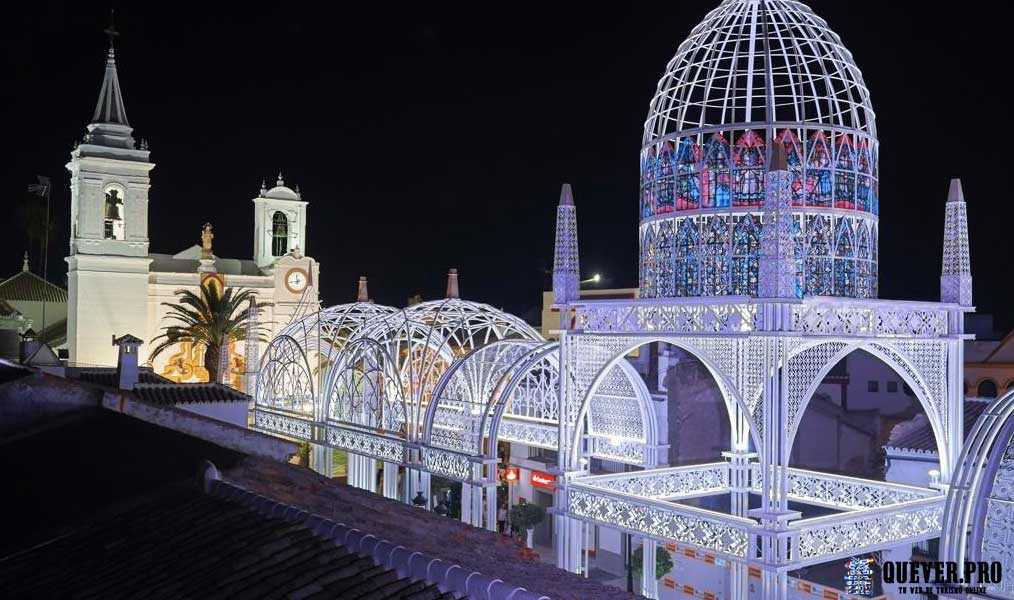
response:
M790 0L725 0L658 82L641 151L642 297L756 295L770 142L792 173L797 296L876 297L869 90L838 34Z

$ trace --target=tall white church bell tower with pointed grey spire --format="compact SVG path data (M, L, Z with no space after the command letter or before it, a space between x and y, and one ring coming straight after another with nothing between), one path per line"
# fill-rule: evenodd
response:
M110 26L98 102L84 138L71 152L67 346L71 362L115 365L110 335L147 342L147 144L127 121ZM143 352L143 350L142 350Z

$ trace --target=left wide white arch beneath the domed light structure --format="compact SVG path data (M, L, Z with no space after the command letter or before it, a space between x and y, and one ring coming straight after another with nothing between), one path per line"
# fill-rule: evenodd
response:
M577 419L574 421L574 423L576 424L584 423L584 420L587 417L588 409L591 404L591 400L595 397L599 385L601 385L602 381L605 379L605 376L609 373L609 371L618 364L626 364L627 363L626 357L631 352L652 343L670 344L692 354L694 358L701 361L701 364L703 364L705 368L708 369L708 372L711 373L712 378L715 380L716 384L719 387L719 390L722 392L722 397L725 400L725 405L729 416L730 425L732 426L732 431L736 431L737 428L736 428L735 417L733 415L734 414L733 406L737 406L739 410L742 411L743 415L750 415L750 410L746 402L743 400L742 397L740 397L739 393L736 391L736 386L733 385L732 382L728 380L728 378L725 376L724 373L722 373L722 370L720 368L718 368L714 363L712 363L712 361L708 358L707 354L703 352L701 349L694 346L693 343L689 342L685 339L665 338L665 336L638 338L636 341L624 346L619 352L614 353L612 357L602 365L602 367L595 374L595 377L592 379L591 384L588 386L587 391L584 394L584 397L581 399L581 405L577 415ZM627 364L627 367L633 369L633 367L631 367L629 364ZM638 380L640 380L640 376L638 376ZM652 419L651 419L651 423L653 424L652 429L655 430L653 436L655 436L657 439L658 428L653 417L653 411L650 410L650 407L647 411L652 413ZM754 448L757 449L757 451L759 451L759 449L762 449L764 445L762 443L762 438L755 429L755 425L750 419L746 419L744 421L747 423L750 439L753 440L753 446ZM580 442L582 435L583 435L582 428L575 427L573 438L570 440L571 464L577 464L579 458L579 452L581 449Z

